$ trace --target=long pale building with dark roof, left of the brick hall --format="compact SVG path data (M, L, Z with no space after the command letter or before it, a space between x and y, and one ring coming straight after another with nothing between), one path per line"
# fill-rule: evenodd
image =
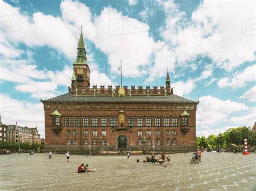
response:
M8 142L35 143L41 145L41 138L37 128L8 125L8 135Z

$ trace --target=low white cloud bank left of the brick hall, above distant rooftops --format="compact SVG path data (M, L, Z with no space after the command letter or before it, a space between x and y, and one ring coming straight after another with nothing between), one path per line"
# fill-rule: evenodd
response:
M14 95L15 96L15 95ZM35 128L44 137L44 110L42 103L18 101L10 95L0 94L2 123Z

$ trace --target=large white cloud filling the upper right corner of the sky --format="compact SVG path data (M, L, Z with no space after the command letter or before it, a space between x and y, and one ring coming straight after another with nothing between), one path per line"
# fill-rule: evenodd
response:
M238 24L255 17L253 1L203 1L192 13L191 21L173 1L160 4L167 16L162 35L175 46L179 62L210 53L208 56L218 67L231 71L245 61L255 60L255 38L242 36L244 29Z

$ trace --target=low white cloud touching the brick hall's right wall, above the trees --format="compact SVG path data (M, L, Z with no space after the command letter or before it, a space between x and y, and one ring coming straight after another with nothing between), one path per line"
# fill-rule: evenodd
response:
M232 112L248 110L245 104L232 102L230 100L219 100L210 95L199 98L197 107L198 125L215 125L225 122Z

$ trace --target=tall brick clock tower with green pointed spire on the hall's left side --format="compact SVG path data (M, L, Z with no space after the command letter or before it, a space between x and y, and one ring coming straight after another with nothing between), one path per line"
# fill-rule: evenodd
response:
M83 93L83 89L90 87L90 69L87 65L82 26L77 46L77 59L73 63L73 74L71 81L72 94L81 94Z

